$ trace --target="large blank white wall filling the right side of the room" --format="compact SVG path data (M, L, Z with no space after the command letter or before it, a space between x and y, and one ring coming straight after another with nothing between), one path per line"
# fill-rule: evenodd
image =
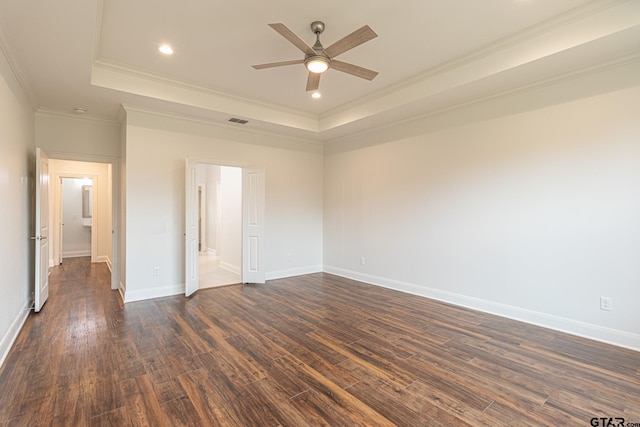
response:
M325 270L640 349L639 112L635 87L332 146Z

